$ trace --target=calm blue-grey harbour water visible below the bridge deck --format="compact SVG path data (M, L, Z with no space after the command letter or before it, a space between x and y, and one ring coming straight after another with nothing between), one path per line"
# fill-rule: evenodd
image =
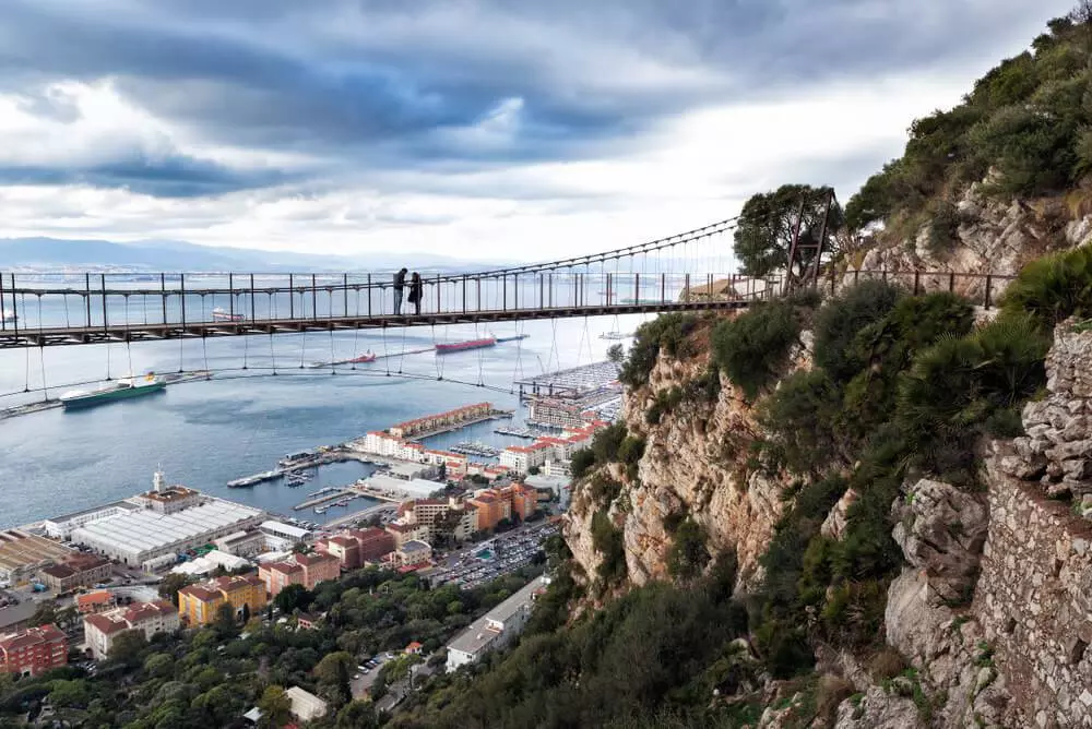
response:
M233 337L134 345L54 347L0 352L0 406L40 399L19 394L25 386L49 385L56 397L86 380L130 371L166 373L212 369L209 381L169 386L131 402L66 413L61 409L0 421L0 527L75 511L146 490L159 467L173 483L293 513L292 506L323 486L345 486L366 467L323 467L306 486L280 482L228 489L227 481L273 468L286 453L333 444L395 422L471 403L490 401L517 408L512 381L602 360L607 331L632 332L643 318L600 318L556 322L460 325L376 333ZM358 366L356 371L314 370L316 361L346 359L371 349L401 352L488 333L530 335L522 342L437 357L407 355ZM435 337L435 339L434 339ZM300 369L300 363L305 364ZM246 364L247 369L241 368ZM273 367L276 374L273 374ZM390 372L391 377L387 377ZM401 379L397 374L426 379ZM438 378L442 378L439 380ZM467 384L468 383L468 384ZM475 386L478 383L499 387ZM12 394L14 393L14 394ZM524 410L518 410L518 417ZM439 445L482 440L494 445L525 443L492 432L498 423L473 426L427 441ZM352 502L351 510L368 504ZM333 509L324 518L346 513ZM313 512L300 512L318 519Z

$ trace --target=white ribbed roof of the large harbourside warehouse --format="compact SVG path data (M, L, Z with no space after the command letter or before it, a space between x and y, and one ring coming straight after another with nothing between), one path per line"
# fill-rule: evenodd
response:
M73 541L111 545L117 551L140 554L203 534L223 529L261 511L214 499L174 514L141 510L85 524L72 533Z

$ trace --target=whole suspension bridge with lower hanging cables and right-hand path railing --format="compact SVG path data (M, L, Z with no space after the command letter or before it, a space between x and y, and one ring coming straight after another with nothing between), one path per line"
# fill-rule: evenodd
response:
M830 201L829 201L830 202ZM829 203L828 203L829 204ZM110 349L120 345L129 359L128 372L133 372L131 348L140 343L178 342L178 371L175 381L200 379L205 372L217 379L253 377L262 372L286 373L285 360L295 359L299 374L319 373L325 368L331 374L352 373L361 377L397 377L402 379L444 380L442 358L437 358L436 372L412 372L403 368L407 355L434 351L440 343L437 328L447 337L458 325L472 325L479 336L479 326L497 322L514 322L517 333L525 322L548 320L554 324L554 346L543 372L554 366L557 351L557 321L584 319L581 335L590 340L587 320L594 316L658 314L675 311L736 310L756 301L769 300L799 287L819 287L830 277L830 289L836 285L831 266L823 266L826 226L810 246L800 240L788 251L787 275L762 278L743 275L729 254L728 236L738 218L728 218L682 234L661 238L601 253L547 261L473 273L424 272L420 296L410 299L411 282L403 289L401 311L395 310L393 273L40 273L0 272L0 351L24 350L23 386L0 393L0 399L19 394L43 393L49 401L49 383L44 354L39 354L38 386L31 382L29 351L66 345L98 345L105 351L106 381L116 377L111 369ZM808 251L807 249L811 250ZM951 272L852 272L853 279L882 277L894 280L915 294L925 290L956 290L961 280L963 292L974 289L982 296L980 303L989 308L1005 276L957 274ZM428 343L407 344L407 331L431 328ZM462 327L466 328L466 327ZM381 335L382 352L376 367L357 367L360 362L358 337L369 331ZM308 337L311 333L329 333L329 361L309 362ZM352 342L344 339L345 333ZM391 349L390 338L401 338ZM242 349L240 367L213 367L209 361L209 343L218 338L268 335L265 362L254 361L249 346ZM277 352L277 335L299 336L298 356ZM522 336L522 335L521 335ZM290 337L289 337L290 338ZM509 337L509 338L521 338ZM187 342L200 343L200 360L183 363ZM313 342L313 338L311 339ZM340 344L339 344L340 343ZM379 344L379 343L377 343ZM345 347L352 347L346 357ZM515 347L520 344L517 342ZM342 351L336 349L341 347ZM415 349L415 347L417 347ZM583 351L583 342L581 343ZM541 358L539 358L541 359ZM589 344L589 359L591 346ZM580 363L580 362L578 362ZM349 364L348 368L339 368ZM560 361L557 362L560 368ZM518 371L513 380L523 377L522 360L517 356ZM478 354L476 381L463 384L511 392L511 385L487 384L482 373ZM182 377L185 375L185 377ZM192 377L191 377L192 375ZM68 382L52 390L100 382L102 379ZM13 383L12 383L13 384Z

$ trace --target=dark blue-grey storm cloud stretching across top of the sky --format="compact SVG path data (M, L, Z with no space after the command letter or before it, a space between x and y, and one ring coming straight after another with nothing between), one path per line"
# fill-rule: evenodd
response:
M109 77L210 143L342 172L484 168L607 156L690 109L993 58L1057 1L7 0L0 91ZM54 171L153 194L280 182L181 163Z

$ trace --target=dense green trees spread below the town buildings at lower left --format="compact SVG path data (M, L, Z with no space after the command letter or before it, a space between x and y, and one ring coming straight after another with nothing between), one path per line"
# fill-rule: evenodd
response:
M400 652L411 641L434 652L531 574L460 590L428 589L413 575L360 570L313 593L293 590L298 608L328 613L317 630L296 630L288 614L285 623L260 616L241 628L218 620L202 630L159 634L151 643L139 633L123 634L94 674L74 667L20 681L0 674L0 726L20 726L21 715L47 700L69 726L222 727L256 705L283 716L283 689L290 685L333 705L331 716L312 726L378 726L371 707L351 702L348 694L359 657Z

